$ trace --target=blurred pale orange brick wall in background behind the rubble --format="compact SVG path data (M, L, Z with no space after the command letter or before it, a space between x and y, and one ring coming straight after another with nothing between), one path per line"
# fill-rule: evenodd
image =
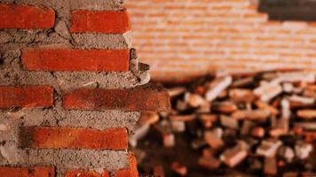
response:
M271 21L252 0L129 0L133 44L154 79L218 70L316 71L316 23Z

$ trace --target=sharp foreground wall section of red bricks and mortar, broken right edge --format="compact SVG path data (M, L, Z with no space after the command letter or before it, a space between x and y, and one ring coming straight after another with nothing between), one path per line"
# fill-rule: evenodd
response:
M170 103L121 1L1 0L0 46L0 176L138 176L128 135Z

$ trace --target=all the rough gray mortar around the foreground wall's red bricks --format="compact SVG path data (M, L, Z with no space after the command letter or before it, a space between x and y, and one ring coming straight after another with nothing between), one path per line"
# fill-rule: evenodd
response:
M0 111L0 165L55 165L57 175L65 170L89 168L114 171L128 166L126 150L21 150L19 127L127 127L130 134L139 112L67 111L62 96L79 88L128 89L149 81L148 68L129 72L29 72L20 64L21 50L34 47L66 49L128 49L130 32L123 35L70 34L70 12L76 9L121 11L122 0L0 0L0 3L40 5L56 12L51 29L0 29L0 85L50 85L55 89L52 108ZM134 58L133 58L134 59ZM135 60L136 61L136 60ZM137 62L136 62L137 64Z

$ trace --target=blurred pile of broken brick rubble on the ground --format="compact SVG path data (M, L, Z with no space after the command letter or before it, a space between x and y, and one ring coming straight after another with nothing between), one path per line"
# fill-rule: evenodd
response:
M149 130L165 149L177 148L183 134L200 154L193 163L209 174L247 165L241 173L316 175L316 164L306 162L316 139L314 73L208 76L169 92L172 111L143 112L130 138L133 147ZM190 172L178 159L170 169L179 176ZM154 174L164 176L162 165L154 166Z

